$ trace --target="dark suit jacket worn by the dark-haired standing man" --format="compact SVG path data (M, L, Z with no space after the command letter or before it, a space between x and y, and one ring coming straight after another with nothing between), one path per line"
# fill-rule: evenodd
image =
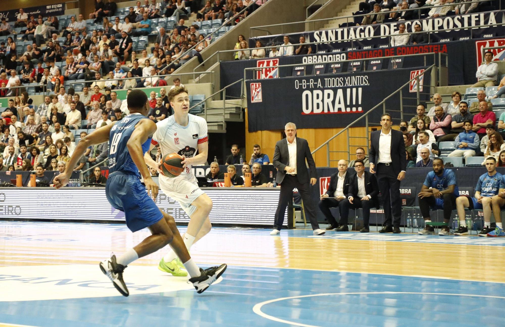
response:
M370 135L370 163L374 164L374 171L377 171L377 161L379 161L379 137L381 129L372 132ZM391 164L395 174L407 170L407 159L405 158L405 142L403 133L391 129Z

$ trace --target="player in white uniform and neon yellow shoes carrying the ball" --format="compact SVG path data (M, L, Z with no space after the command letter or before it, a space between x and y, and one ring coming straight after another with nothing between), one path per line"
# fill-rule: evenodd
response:
M189 250L191 245L209 233L212 227L209 220L212 200L198 188L196 177L191 170L192 165L201 165L207 161L209 150L207 122L201 117L188 114L189 96L185 87L177 86L171 89L168 92L168 99L174 108L174 115L156 123L157 129L144 159L149 167L161 172L159 182L163 192L178 201L190 217L187 231L182 237ZM150 157L150 150L157 144L160 144L162 157L172 152L182 155L184 170L180 176L173 178L164 176L160 163ZM167 263L170 262L175 265L169 267ZM187 271L181 270L184 268L182 262L172 250L161 259L158 268L174 276L187 276Z

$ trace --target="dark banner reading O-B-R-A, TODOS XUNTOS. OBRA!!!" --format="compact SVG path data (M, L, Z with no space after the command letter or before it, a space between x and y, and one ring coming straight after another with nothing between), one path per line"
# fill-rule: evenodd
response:
M345 127L418 75L422 90L424 70L411 68L247 81L249 131L283 129L287 122L297 128ZM386 111L399 111L398 103L392 97ZM381 114L374 111L369 121L379 123ZM365 126L365 119L356 126Z

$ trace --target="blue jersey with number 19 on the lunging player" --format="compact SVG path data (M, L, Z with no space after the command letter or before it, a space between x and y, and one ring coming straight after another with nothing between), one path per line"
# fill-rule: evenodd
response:
M116 123L109 135L109 174L117 171L134 173L140 178L137 166L133 162L126 143L141 119L148 119L141 114L130 114ZM151 137L142 144L142 152L149 150Z

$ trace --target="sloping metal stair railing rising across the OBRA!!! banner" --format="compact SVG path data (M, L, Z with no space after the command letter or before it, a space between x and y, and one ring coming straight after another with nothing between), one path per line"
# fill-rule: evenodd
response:
M435 67L436 67L435 64L431 65L430 67L428 67L423 72L423 74L431 72ZM381 108L381 107L382 107L382 113L386 113L386 101L388 99L390 99L393 95L397 94L398 92L400 92L400 101L401 101L401 98L402 98L401 92L402 92L403 88L409 87L410 83L412 81L414 81L414 80L416 81L416 94L417 94L416 99L417 99L417 102L419 103L420 102L420 94L421 94L421 92L420 92L420 84L419 84L420 83L420 76L418 75L418 76L410 79L407 83L403 84L396 91L394 91L391 94L389 94L388 96L386 96L381 102L379 102L378 104L376 104L375 106L373 106L369 111L367 111L361 117L359 117L358 119L356 119L355 121L353 121L352 123L350 123L349 125L347 125L346 127L344 127L341 131L339 131L338 133L336 133L335 135L333 135L332 137L330 137L328 140L326 140L323 144L321 144L320 146L318 146L311 153L314 154L317 151L319 151L321 148L323 148L324 146L326 146L326 162L327 162L327 166L328 167L330 167L330 161L337 161L337 160L330 159L330 153L331 152L346 152L347 153L347 158L349 159L349 148L351 146L354 146L354 145L350 145L349 139L353 138L353 137L349 137L349 128L352 127L352 126L354 126L356 123L358 123L362 119L365 119L365 129L366 129L367 135L366 135L366 137L365 136L361 136L361 137L358 137L358 138L365 138L365 139L367 139L367 142L366 142L365 146L368 149L368 147L369 147L369 143L368 143L369 137L368 137L368 135L370 133L370 130L369 130L370 123L369 123L368 116L374 110L376 110L377 108ZM430 86L430 87L434 87L434 86ZM400 112L402 113L402 111L400 111ZM403 116L402 115L401 115L401 120L403 120ZM330 151L330 144L329 144L330 141L332 141L333 139L335 139L336 137L338 137L339 135L341 135L343 133L347 134L347 151ZM354 138L357 138L357 137L354 137ZM355 146L355 147L357 147L357 146ZM369 151L367 151L367 152L369 152Z

